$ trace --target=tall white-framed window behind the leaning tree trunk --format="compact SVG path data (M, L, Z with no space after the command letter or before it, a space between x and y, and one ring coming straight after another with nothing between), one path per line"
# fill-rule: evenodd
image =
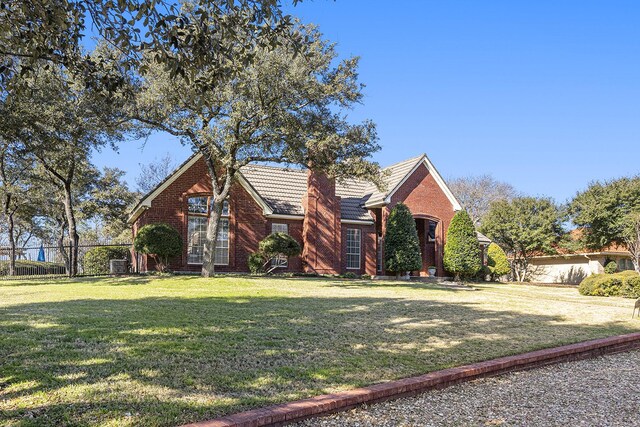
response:
M209 200L211 199L211 200ZM207 222L211 214L211 201L206 196L190 197L187 201L189 217L187 224L187 262L202 264L204 242L207 237ZM229 265L229 202L222 205L222 218L218 225L218 238L214 264Z

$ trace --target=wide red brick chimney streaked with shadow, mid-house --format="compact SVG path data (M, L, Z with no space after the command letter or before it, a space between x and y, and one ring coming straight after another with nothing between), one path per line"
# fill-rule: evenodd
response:
M335 179L325 173L307 172L307 195L302 200L302 259L305 271L318 274L340 274L342 233L340 197L336 196Z

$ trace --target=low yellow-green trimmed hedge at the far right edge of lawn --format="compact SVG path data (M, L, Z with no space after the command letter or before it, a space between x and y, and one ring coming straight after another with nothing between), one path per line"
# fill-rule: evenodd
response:
M592 274L578 287L582 295L640 298L640 275L635 271Z

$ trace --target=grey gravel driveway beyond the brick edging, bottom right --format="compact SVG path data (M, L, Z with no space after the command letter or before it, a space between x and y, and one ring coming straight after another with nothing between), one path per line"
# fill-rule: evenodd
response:
M640 426L640 351L479 379L296 425Z

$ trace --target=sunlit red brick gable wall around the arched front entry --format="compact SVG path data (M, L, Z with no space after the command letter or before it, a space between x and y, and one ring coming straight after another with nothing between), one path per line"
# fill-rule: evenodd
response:
M442 256L444 250L445 236L455 214L451 201L440 188L438 183L429 173L427 167L420 165L413 174L400 186L391 198L391 203L383 209L384 223L391 209L399 202L406 204L411 213L416 218L427 218L438 221L436 229L436 266L438 276L444 276L444 266ZM423 265L421 274L426 275L426 268Z

